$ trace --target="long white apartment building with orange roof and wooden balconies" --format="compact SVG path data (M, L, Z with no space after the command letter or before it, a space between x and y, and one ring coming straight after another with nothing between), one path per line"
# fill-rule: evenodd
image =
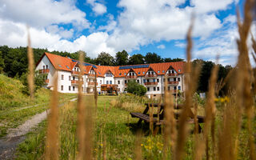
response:
M118 92L126 89L130 80L146 86L146 95L164 94L167 90L176 93L184 90L184 64L185 62L163 62L132 66L97 66L82 62L80 70L78 60L55 54L44 53L36 65L39 74L46 74L46 88L53 88L54 76L58 75L58 91L62 93L78 93L78 75L82 74L82 91L101 92L102 84L118 85ZM166 77L166 78L165 78ZM165 79L167 82L165 83Z

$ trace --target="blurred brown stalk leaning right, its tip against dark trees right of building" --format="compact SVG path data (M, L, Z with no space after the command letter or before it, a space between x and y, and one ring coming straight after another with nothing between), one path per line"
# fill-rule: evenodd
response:
M217 82L218 78L218 66L215 65L211 75L210 75L210 82L209 82L209 91L207 94L206 99L206 119L205 119L205 125L203 130L203 139L202 142L198 143L198 149L195 150L195 159L202 159L203 150L206 149L206 159L209 159L209 153L208 153L208 142L209 142L209 132L210 128L214 123L214 116L216 112L216 106L215 106L215 84ZM212 139L214 140L214 135L212 134ZM214 142L214 141L213 141ZM214 143L215 144L215 143ZM214 148L214 145L213 145Z

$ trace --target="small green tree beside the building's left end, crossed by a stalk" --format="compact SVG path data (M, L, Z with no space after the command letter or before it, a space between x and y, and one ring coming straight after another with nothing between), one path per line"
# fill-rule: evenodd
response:
M27 81L27 72L22 74L21 76L21 82L23 84L23 88L22 88L22 92L25 94L30 95L30 91L29 91L29 84ZM34 74L34 93L36 93L36 91L41 88L43 85L46 84L46 74L39 74L38 71L35 72Z

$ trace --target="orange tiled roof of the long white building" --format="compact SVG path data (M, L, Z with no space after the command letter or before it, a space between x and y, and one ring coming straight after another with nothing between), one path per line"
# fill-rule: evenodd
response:
M71 58L62 57L56 54L49 54L45 53L42 55L42 57L46 55L47 58L49 58L50 62L53 64L54 68L57 70L66 70L71 71L73 70L74 66L77 65L77 61ZM38 63L42 60L38 61ZM73 61L72 61L73 60ZM37 65L38 65L37 63ZM90 63L88 63L90 64ZM151 63L147 68L133 68L135 74L138 76L145 76L146 72L150 69L154 70L154 72L158 75L164 75L166 74L166 71L172 67L178 74L184 73L184 64L185 62L162 62L162 63ZM146 64L143 64L146 65ZM69 68L68 68L68 67ZM123 69L119 70L120 66L97 66L94 65L97 68L94 68L94 71L97 73L99 77L104 77L107 71L110 71L112 74L114 74L114 77L121 78L126 77L130 69ZM138 65L130 65L130 66L138 66ZM88 74L89 71L92 69L92 66L83 66L82 72L83 74Z

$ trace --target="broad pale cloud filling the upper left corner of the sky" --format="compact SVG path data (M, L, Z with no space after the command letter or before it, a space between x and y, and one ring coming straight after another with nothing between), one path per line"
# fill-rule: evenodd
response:
M0 18L38 28L58 23L72 23L78 30L90 27L86 13L78 10L72 0L0 0L0 8Z

